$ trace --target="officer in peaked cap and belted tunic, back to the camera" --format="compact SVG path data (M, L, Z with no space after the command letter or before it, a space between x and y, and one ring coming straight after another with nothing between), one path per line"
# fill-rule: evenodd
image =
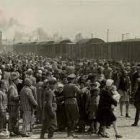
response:
M79 109L76 98L77 94L80 93L80 89L74 84L75 78L75 74L70 74L68 76L68 84L66 84L63 89L67 117L67 136L69 138L77 138L77 136L74 135L74 129L79 119Z

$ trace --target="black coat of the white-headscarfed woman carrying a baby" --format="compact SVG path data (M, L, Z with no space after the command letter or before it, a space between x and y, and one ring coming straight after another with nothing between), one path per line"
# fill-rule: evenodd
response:
M108 89L102 90L97 111L97 121L103 126L110 126L116 120L111 105L117 106L117 101L112 98Z

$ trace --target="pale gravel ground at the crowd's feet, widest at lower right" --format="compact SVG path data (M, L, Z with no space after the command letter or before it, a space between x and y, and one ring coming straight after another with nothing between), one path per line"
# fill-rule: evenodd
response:
M124 112L125 112L125 107L124 107ZM134 122L134 117L135 117L135 108L131 105L130 106L130 116L131 118L126 118L125 116L120 116L119 112L119 106L116 108L115 114L117 116L117 126L119 133L123 136L122 139L140 139L140 126L138 127L132 127L131 124ZM125 115L125 113L124 113ZM78 139L116 139L114 130L112 127L107 130L108 133L110 134L110 138L101 138L98 137L96 134L77 134ZM28 139L39 139L39 133L40 129L34 129L33 134L31 137ZM54 139L66 139L66 132L55 132L54 134ZM47 139L47 134L45 135L45 138ZM21 139L19 137L14 137L13 139ZM22 139L27 139L27 138L22 138Z

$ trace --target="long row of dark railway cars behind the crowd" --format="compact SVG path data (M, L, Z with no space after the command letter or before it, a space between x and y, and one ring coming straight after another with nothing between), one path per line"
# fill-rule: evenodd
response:
M30 42L13 45L16 53L35 53L47 57L90 58L114 60L140 60L140 41L104 42L99 38L85 39L77 43L70 40L61 42Z

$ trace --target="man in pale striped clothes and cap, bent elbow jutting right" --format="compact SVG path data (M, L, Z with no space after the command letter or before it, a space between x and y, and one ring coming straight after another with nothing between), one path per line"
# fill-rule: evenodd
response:
M24 87L20 92L20 105L23 112L23 134L22 136L28 137L27 132L32 123L32 111L33 108L37 106L37 102L33 96L31 90L32 81L29 78L26 78L24 81Z

